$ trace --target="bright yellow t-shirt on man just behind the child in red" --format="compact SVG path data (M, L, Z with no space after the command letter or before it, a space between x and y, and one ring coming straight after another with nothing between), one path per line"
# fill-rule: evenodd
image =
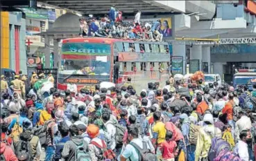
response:
M167 134L165 124L163 122L157 122L155 126L153 126L153 133L157 133L157 144L164 142L165 135Z

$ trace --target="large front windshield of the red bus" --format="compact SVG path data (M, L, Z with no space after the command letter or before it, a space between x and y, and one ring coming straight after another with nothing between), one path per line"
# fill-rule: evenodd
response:
M62 75L110 75L110 44L62 44Z

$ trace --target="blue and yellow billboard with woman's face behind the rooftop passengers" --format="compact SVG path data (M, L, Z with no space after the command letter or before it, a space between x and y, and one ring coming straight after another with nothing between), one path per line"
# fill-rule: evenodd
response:
M160 22L157 22L160 20ZM134 19L125 19L123 20L124 23L130 24L133 23ZM162 33L163 37L173 37L173 17L165 17L165 18L158 18L158 19L140 19L140 24L142 26L151 26L152 30L158 30ZM148 23L148 25L146 24Z

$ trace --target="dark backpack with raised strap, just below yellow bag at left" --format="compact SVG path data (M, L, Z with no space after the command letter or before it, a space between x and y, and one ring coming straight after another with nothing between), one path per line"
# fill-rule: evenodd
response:
M42 146L46 146L46 133L47 133L47 126L53 122L52 120L49 120L45 122L42 126L37 126L32 130L33 135L37 136L40 140L40 144Z

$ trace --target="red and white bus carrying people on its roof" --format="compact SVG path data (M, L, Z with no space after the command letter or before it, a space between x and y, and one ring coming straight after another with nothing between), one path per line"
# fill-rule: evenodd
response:
M170 55L166 42L133 41L102 37L64 39L60 53L58 88L67 84L90 88L101 82L121 86L131 77L136 90L148 82L164 85L169 77Z

